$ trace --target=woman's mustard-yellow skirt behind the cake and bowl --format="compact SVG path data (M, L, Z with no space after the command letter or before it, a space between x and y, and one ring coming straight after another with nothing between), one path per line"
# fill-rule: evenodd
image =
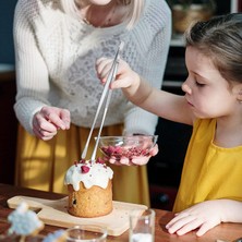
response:
M121 135L122 124L104 128L101 135ZM93 136L98 130L94 130ZM71 125L59 131L50 141L29 135L19 125L15 184L41 191L68 193L63 184L66 170L80 160L89 129ZM95 141L92 138L87 157L90 157ZM97 156L101 156L100 152ZM109 165L113 174L113 199L149 206L146 166L126 167Z

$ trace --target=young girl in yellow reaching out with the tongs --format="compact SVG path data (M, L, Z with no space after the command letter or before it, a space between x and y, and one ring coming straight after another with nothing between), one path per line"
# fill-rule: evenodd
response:
M184 96L153 88L120 61L111 88L135 105L193 125L181 183L167 225L199 237L220 222L242 222L242 13L198 22L185 34ZM97 71L105 81L110 60Z

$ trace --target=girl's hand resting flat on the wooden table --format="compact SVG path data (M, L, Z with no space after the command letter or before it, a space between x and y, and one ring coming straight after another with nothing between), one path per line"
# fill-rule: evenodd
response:
M181 213L167 223L169 233L183 235L197 229L196 235L201 237L222 221L222 203L219 199L206 201L196 204Z

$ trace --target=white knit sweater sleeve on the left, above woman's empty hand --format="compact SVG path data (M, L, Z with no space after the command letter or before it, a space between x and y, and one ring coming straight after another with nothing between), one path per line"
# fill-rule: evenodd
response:
M14 111L20 123L33 134L33 116L44 106L49 105L48 70L38 50L33 32L31 14L20 0L14 14L14 47L16 65L16 102Z

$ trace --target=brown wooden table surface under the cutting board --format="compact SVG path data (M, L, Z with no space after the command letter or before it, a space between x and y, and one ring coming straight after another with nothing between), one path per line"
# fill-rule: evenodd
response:
M8 215L12 211L8 207L7 201L10 197L23 195L23 196L33 196L47 199L59 199L64 197L63 194L41 192L36 190L16 187L13 185L7 185L0 183L0 233L3 233L8 228L9 223L7 220ZM208 231L205 235L197 238L195 232L190 232L185 235L178 237L176 234L169 234L165 228L166 223L173 217L171 211L156 210L156 242L216 242L217 239L222 239L227 241L232 241L239 237L242 237L242 225L241 223L222 223ZM58 227L45 226L45 229L40 232L41 234L47 234L52 232ZM109 241L129 241L129 232L124 232L120 237L108 237L107 242Z

